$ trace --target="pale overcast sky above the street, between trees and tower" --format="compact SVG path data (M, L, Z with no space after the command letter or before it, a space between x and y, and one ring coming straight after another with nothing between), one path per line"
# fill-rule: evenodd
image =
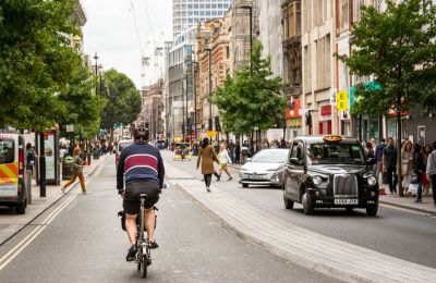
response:
M83 27L84 51L104 70L116 69L141 89L155 83L162 70L155 48L172 39L172 0L81 0L87 22ZM150 58L143 72L142 57ZM92 60L95 64L95 60ZM144 76L142 76L144 74Z

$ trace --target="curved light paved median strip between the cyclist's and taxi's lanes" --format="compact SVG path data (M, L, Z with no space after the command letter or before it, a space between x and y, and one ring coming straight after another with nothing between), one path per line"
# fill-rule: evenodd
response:
M346 282L436 282L436 269L300 227L215 186L206 193L203 182L165 165L171 183L223 225L290 262Z

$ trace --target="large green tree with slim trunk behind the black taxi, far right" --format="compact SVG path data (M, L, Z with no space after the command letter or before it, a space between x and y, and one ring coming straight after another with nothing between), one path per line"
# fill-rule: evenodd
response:
M436 7L431 1L387 0L386 11L365 7L353 26L355 48L340 57L352 74L374 76L379 87L360 87L354 113L397 113L398 142L401 139L401 112L421 104L423 111L436 107ZM400 168L401 145L398 143ZM399 194L402 196L401 182Z

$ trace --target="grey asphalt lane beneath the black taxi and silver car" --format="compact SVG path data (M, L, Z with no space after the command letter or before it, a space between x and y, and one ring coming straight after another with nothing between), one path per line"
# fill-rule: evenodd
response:
M173 161L170 151L162 151L167 162L203 179L192 161ZM216 165L216 169L218 167ZM232 181L223 172L220 182L213 176L211 186L217 186L246 202L255 205L281 219L323 235L350 244L370 248L392 257L436 268L436 218L425 213L412 213L401 209L379 207L376 218L366 217L363 209L351 213L344 209L319 209L314 216L304 216L298 204L294 209L284 209L282 190L269 186L242 188L238 184L238 170L230 169Z

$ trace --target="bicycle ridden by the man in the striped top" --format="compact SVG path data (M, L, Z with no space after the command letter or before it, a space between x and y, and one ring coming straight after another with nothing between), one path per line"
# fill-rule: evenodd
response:
M141 271L143 278L147 276L147 267L152 264L152 253L149 248L148 237L144 236L145 232L145 199L147 198L147 194L141 194L141 211L140 216L140 223L136 221L137 225L137 235L136 235L136 259L135 262L137 263L137 270ZM158 210L156 207L153 207L154 210ZM137 219L137 218L136 218ZM156 217L155 217L155 229L156 229Z

